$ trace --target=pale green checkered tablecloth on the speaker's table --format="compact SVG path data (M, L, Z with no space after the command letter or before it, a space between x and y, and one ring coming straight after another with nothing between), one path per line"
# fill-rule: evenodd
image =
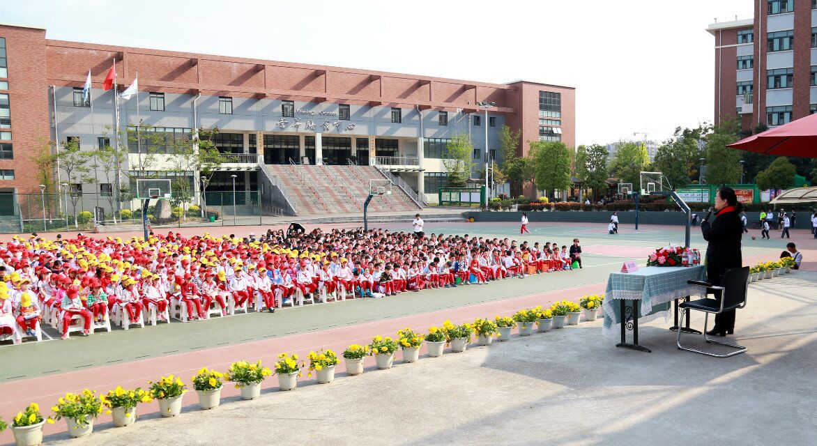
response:
M632 273L612 273L607 279L605 301L601 308L605 323L601 332L613 336L619 332L621 306L619 299L637 301L640 306L639 323L664 316L669 317L669 303L680 297L703 296L702 287L686 283L703 280L706 268L696 266L647 266Z

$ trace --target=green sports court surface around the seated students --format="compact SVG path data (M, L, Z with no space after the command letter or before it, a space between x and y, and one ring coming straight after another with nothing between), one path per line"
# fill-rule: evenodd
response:
M402 230L396 225L384 225L389 230ZM427 224L428 233L470 234L484 237L508 237L529 243L557 242L569 245L574 237L581 239L585 249L582 270L550 274L535 274L525 279L504 279L485 285L441 288L422 292L405 292L382 299L355 299L326 305L303 306L278 310L275 314L237 314L194 323L159 323L156 327L132 328L128 331L97 332L90 337L74 337L60 341L58 333L47 328L51 341L25 342L21 346L0 346L0 382L42 377L62 372L74 372L109 364L127 363L138 359L176 355L219 346L234 346L249 341L293 334L315 332L375 320L398 318L436 310L453 309L488 301L552 292L594 283L603 284L611 271L623 261L645 262L644 248L657 248L668 242L682 244L683 231L675 228L642 226L637 233L622 229L610 235L600 225L534 226L532 234L519 236L514 224ZM704 249L705 242L693 232L693 246ZM748 241L744 256L768 253L782 243ZM766 245L766 246L764 246ZM774 248L772 248L774 247ZM601 253L593 253L601 251ZM565 296L576 299L579 296ZM493 316L486 314L486 316ZM441 323L442 321L440 321Z

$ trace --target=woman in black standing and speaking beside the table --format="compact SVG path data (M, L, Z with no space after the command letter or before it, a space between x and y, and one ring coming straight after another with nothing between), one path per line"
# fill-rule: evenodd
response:
M721 187L715 195L715 220L701 221L703 239L707 246L707 282L720 285L723 274L730 268L743 266L740 252L740 239L743 236L743 224L740 221L742 206L730 187ZM716 296L717 299L721 297ZM715 315L715 327L707 332L709 335L726 336L734 333L734 310Z

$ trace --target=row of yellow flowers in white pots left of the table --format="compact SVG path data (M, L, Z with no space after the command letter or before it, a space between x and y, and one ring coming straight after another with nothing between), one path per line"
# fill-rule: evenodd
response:
M359 375L364 371L364 359L367 355L374 356L377 368L391 368L395 352L403 350L403 361L413 363L419 359L422 343L426 342L428 355L431 358L443 355L446 345L451 345L455 353L466 350L474 335L480 346L490 345L493 337L499 341L508 341L511 338L511 329L519 325L520 336L529 336L533 332L534 323L538 324L538 332L547 332L551 328L562 328L565 323L575 325L579 323L582 310L586 320L596 320L604 295L588 295L578 302L559 301L547 309L542 306L519 310L512 317L496 316L491 319L475 319L473 323L456 325L446 320L441 327L432 326L426 334L415 332L412 328L404 328L397 332L397 337L373 337L367 346L357 344L348 346L342 353L346 363L346 372ZM332 382L335 378L335 367L340 363L337 354L332 350L310 351L307 355L308 367L298 355L282 353L275 362L275 373L278 375L280 390L292 390L297 387L297 378L302 376L304 368L308 369L308 377L315 377L320 384ZM261 383L272 375L272 370L266 368L261 361L255 363L238 361L230 364L226 372L218 372L210 368L201 368L190 382L199 396L199 407L211 409L221 404L221 390L225 382L233 382L241 392L242 399L256 399L261 395ZM57 400L51 407L54 413L51 417L43 417L38 404L29 404L18 413L11 423L16 444L20 446L34 446L42 443L42 426L45 423L65 419L68 433L72 437L90 435L93 423L101 413L112 415L114 426L129 426L136 422L136 406L157 400L159 413L162 417L175 417L181 413L182 399L187 393L187 386L181 378L173 375L160 377L158 381L149 381L148 390L136 388L132 390L117 386L107 395L96 395L94 390L83 390L81 393L68 393ZM0 431L7 428L0 419Z

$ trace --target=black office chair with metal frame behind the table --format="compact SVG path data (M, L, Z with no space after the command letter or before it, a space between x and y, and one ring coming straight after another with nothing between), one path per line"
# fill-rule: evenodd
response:
M730 353L725 355L718 355L716 353L710 353L708 351L703 350L695 350L690 349L685 346L681 346L681 332L683 330L678 330L678 337L676 339L676 343L678 344L678 348L681 350L687 351L694 351L695 353L700 353L701 355L708 355L714 356L716 358L729 358L730 356L739 355L741 353L746 352L746 347L738 346L736 344L729 344L727 342L715 341L707 336L707 325L709 323L709 314L720 314L726 310L737 310L739 308L743 308L746 306L746 295L749 288L748 283L749 278L749 267L743 266L743 268L732 268L730 270L726 270L725 274L723 274L723 280L721 281L721 286L717 287L712 285L712 283L708 282L700 282L698 280L689 280L687 283L690 285L699 285L701 287L707 288L707 295L714 294L714 295L721 295L721 299L710 299L708 297L704 297L703 299L699 299L697 301L691 302L681 302L678 308L681 311L679 314L678 320L684 320L684 312L690 310L699 310L706 313L706 316L703 319L703 340L707 342L714 342L716 344L721 344L721 346L730 346L738 350L734 350Z

